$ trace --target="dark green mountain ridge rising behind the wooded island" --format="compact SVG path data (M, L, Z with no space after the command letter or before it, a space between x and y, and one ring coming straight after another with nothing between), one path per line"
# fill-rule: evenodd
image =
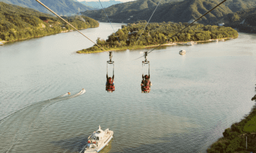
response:
M200 17L218 3L216 0L164 1L163 4L158 6L150 22L188 22L191 19ZM131 23L139 20L148 20L155 8L156 1L139 0L110 6L106 8L106 12L111 22ZM224 4L221 4L221 6L200 19L199 22L211 24L228 13L232 13L232 11ZM102 10L85 11L83 14L96 20L107 21L106 15Z

